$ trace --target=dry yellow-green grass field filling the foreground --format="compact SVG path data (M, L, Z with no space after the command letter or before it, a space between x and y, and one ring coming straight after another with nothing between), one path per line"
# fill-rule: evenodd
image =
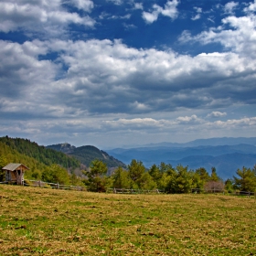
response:
M256 255L256 200L0 186L0 255Z

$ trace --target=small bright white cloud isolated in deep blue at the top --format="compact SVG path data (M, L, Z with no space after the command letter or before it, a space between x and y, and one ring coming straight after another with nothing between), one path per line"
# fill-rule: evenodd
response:
M158 16L162 14L163 16L168 16L171 19L176 19L178 11L176 6L179 4L178 0L167 1L165 7L159 5L153 5L152 12L143 12L143 18L146 23L153 23L157 20Z

